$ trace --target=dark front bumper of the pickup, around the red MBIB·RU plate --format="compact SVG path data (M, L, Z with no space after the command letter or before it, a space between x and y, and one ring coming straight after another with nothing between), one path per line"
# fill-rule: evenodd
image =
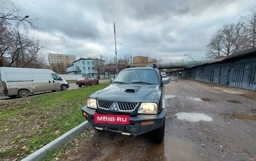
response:
M167 109L162 109L159 114L140 114L136 117L130 117L129 125L110 124L110 123L94 123L95 109L88 108L86 105L81 109L83 116L95 128L101 127L103 130L114 132L125 132L130 135L140 135L148 131L152 131L163 125ZM84 114L85 113L85 114ZM87 115L87 116L86 116ZM154 122L153 125L140 125L141 122Z

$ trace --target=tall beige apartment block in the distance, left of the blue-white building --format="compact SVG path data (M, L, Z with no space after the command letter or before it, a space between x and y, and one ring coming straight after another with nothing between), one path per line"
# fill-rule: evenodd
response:
M56 63L63 63L66 66L68 66L68 65L72 65L72 62L76 61L76 56L68 55L68 54L49 53L48 54L48 61L49 61L50 66L52 64L56 64Z

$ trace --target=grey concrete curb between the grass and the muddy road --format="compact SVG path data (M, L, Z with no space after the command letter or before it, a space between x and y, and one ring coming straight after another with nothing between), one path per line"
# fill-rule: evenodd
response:
M43 146L43 148L35 151L34 153L30 154L28 157L22 159L21 161L30 161L30 160L40 160L42 159L47 153L54 149L58 149L60 145L66 144L68 141L76 137L77 135L81 134L85 128L89 127L90 123L85 121L81 123L79 126L76 126L72 130L66 132L66 134L61 135L57 139L53 140L49 144Z

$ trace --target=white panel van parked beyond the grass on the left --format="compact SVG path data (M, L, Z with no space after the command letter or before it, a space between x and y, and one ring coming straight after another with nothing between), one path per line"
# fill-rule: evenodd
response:
M67 88L67 81L51 70L0 67L0 96L26 97L30 93Z

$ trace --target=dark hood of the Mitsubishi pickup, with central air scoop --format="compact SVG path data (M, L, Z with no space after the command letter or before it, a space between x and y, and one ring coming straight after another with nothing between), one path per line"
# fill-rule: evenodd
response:
M99 91L97 99L114 102L154 102L158 92L158 85L111 84Z

